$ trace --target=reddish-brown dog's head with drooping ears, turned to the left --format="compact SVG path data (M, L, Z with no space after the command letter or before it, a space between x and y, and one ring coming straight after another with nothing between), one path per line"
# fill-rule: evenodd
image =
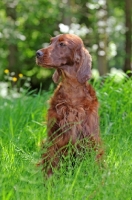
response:
M74 34L61 34L51 38L50 45L36 52L36 63L55 68L54 82L59 76L85 83L91 77L91 56L81 38Z

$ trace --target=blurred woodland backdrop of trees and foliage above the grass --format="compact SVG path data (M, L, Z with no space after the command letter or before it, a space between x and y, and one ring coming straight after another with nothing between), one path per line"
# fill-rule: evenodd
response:
M131 76L131 9L131 0L0 1L1 88L7 82L7 87L9 82L32 89L53 87L53 71L38 67L35 53L60 33L83 39L93 58L93 77Z

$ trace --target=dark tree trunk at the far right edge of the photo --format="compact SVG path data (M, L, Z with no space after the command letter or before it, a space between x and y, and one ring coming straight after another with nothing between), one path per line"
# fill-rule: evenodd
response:
M125 34L125 63L124 63L124 71L127 72L128 70L132 70L131 67L131 56L132 56L132 1L125 0L125 25L126 25L126 34ZM132 73L128 73L129 76L132 76Z

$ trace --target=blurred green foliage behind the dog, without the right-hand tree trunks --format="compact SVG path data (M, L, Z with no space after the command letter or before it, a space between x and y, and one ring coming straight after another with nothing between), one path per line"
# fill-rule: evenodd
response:
M36 50L45 47L49 38L60 32L59 24L68 25L69 32L79 34L89 48L93 68L98 66L99 28L102 21L98 11L104 9L105 1L24 1L3 0L0 2L0 80L4 69L32 78L32 87L48 89L52 71L40 69L35 64ZM107 2L107 68L123 68L125 59L124 2ZM103 12L103 11L102 11ZM70 22L70 24L69 24ZM10 53L15 55L10 55ZM10 56L10 59L9 59ZM14 57L14 58L13 58ZM128 67L129 68L129 67Z

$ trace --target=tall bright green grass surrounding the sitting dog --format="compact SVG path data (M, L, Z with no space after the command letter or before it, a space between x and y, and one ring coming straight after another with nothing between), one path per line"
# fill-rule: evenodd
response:
M100 102L100 127L106 169L94 155L70 159L49 179L36 163L46 137L47 99L51 94L0 98L0 199L132 200L132 80L94 82Z

